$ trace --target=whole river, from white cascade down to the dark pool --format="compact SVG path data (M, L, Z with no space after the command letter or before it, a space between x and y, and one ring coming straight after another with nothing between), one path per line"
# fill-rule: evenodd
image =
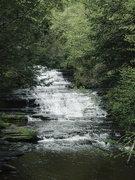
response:
M28 126L40 140L31 152L11 161L18 180L134 180L135 167L113 159L108 138L119 136L97 92L70 89L59 70L39 67L38 85L18 90L27 98ZM33 102L34 106L29 104Z

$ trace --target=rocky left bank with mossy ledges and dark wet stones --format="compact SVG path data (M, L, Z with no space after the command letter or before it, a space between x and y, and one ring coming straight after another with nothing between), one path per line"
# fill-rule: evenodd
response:
M5 165L31 151L31 143L36 143L37 133L27 127L28 118L22 114L0 114L0 172L12 171Z

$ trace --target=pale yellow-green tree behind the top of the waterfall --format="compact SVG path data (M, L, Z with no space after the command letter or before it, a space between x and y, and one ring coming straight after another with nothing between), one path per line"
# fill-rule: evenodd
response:
M63 11L52 12L51 33L55 37L54 46L63 57L61 66L75 69L74 81L83 84L88 77L85 73L85 56L89 53L89 23L85 7L81 2L69 2ZM88 73L88 71L87 71Z

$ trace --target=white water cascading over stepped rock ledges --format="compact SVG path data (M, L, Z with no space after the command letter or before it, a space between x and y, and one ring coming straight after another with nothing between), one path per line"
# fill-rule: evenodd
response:
M38 107L29 122L38 130L42 146L105 146L108 122L96 92L69 89L70 82L58 70L40 68L37 81L32 96Z

